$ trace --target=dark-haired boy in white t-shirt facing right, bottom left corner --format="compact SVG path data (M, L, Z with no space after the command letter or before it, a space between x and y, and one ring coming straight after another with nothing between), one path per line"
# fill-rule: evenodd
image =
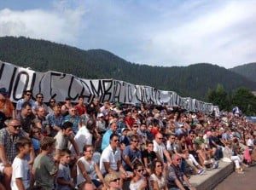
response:
M30 167L26 156L31 152L32 142L27 137L21 137L16 142L17 156L12 164L13 174L11 180L12 190L25 190L31 187Z

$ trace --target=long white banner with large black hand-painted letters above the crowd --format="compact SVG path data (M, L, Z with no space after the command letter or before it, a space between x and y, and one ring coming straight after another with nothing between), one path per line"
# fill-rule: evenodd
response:
M14 102L20 100L24 90L32 89L33 95L41 92L45 102L48 102L50 98L64 101L67 96L77 101L79 95L84 95L86 103L97 97L101 102L114 101L132 104L145 102L154 105L178 106L192 112L212 113L213 109L211 103L181 97L173 91L114 79L90 80L61 72L35 72L2 61L0 61L0 87L8 89L10 99Z

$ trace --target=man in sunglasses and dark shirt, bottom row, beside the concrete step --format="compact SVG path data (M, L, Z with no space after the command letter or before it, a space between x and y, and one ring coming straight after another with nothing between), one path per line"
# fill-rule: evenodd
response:
M190 184L188 177L180 169L180 162L181 157L177 154L172 154L172 164L168 165L166 173L168 189L195 190L195 187L192 187Z

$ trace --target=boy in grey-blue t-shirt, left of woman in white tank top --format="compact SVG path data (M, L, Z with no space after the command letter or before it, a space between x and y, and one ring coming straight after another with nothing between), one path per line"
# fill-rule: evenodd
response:
M73 190L75 187L68 165L71 160L70 156L71 152L68 149L63 149L60 153L60 164L56 176L57 190Z

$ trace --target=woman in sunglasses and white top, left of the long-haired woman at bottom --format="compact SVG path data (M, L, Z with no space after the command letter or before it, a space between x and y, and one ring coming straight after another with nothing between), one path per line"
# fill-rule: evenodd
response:
M133 167L133 177L130 182L130 190L145 190L148 187L148 181L143 176L143 164L137 163Z

